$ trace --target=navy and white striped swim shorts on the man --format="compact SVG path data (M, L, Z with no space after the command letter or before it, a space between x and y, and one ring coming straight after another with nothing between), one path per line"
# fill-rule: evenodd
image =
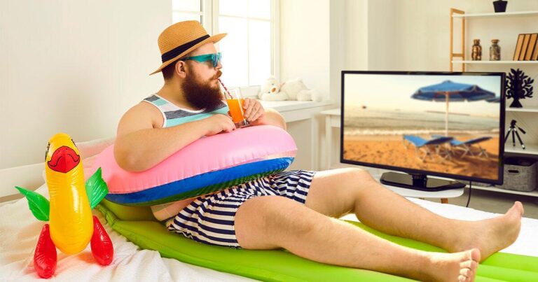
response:
M315 171L283 171L196 198L168 223L168 230L200 243L241 248L235 213L247 199L277 195L305 204Z

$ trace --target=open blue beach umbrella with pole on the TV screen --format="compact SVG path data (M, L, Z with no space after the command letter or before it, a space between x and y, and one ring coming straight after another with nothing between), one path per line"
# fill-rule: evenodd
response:
M448 104L457 101L481 101L495 97L495 93L483 90L478 85L455 83L445 80L442 83L420 87L412 96L423 101L446 102L445 136L448 136Z

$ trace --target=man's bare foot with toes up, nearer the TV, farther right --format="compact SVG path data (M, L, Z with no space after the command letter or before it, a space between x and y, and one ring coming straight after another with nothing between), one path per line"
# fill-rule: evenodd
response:
M521 217L523 216L523 204L515 202L503 216L469 222L462 232L459 241L453 244L452 252L478 248L481 258L485 260L493 253L510 246L519 235Z

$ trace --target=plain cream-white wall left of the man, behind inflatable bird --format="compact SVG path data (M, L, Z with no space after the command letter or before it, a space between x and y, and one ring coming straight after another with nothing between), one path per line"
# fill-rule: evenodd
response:
M170 1L0 0L0 169L43 161L57 132L116 134L156 92Z

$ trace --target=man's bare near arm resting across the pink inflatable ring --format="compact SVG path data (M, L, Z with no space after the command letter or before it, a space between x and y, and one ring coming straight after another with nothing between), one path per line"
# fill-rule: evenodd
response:
M162 114L146 103L132 107L123 115L114 143L114 157L121 168L144 171L202 136L235 129L226 115L213 115L174 127L153 128L159 121L162 124Z

